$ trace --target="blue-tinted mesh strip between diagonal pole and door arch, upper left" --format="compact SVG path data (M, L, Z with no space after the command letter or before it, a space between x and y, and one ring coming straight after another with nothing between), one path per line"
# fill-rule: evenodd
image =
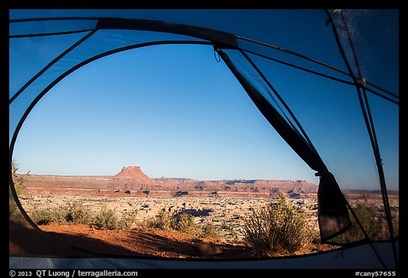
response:
M77 34L75 34L77 35ZM64 35L65 36L65 35ZM72 35L71 35L72 36ZM60 35L58 37L61 37ZM82 39L85 40L81 42ZM136 39L135 39L136 38ZM26 38L24 38L25 40ZM20 39L11 39L20 40ZM51 47L48 45L50 37L41 37L42 45ZM81 47L78 47L77 42L81 42ZM134 31L134 30L98 30L95 33L88 33L82 35L79 40L70 45L72 49L69 52L63 53L62 57L58 61L50 61L52 66L48 67L44 73L38 76L33 82L24 89L24 93L20 95L18 91L11 91L11 103L10 103L10 136L13 135L13 130L16 129L18 122L23 117L26 110L31 103L36 102L44 95L51 86L49 84L56 83L58 80L67 76L74 69L83 66L84 64L93 61L94 59L103 57L107 54L113 54L118 51L129 50L131 48L142 47L146 45L159 44L159 43L178 43L178 42L196 42L200 43L202 40L186 37L183 35L174 35L169 33L152 33L146 31ZM29 47L30 45L28 45ZM26 45L27 47L27 45ZM18 53L15 53L14 50ZM44 51L44 49L38 49ZM30 48L25 50L11 49L11 55L29 55ZM26 64L12 65L11 76L17 76L18 72L25 71ZM35 73L37 74L37 73ZM28 79L30 80L30 79ZM10 86L13 88L14 86ZM16 94L18 93L18 98ZM37 98L37 100L36 100ZM11 137L10 137L11 139Z

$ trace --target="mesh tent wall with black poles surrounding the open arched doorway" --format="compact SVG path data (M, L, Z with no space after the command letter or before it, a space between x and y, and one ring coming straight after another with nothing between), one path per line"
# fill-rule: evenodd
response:
M9 16L10 165L30 111L81 66L140 47L207 45L320 177L322 241L343 246L318 255L242 262L123 262L77 251L73 256L81 258L63 262L38 246L32 257L10 255L10 265L285 267L295 260L299 267L397 266L399 212L388 195L399 197L398 10L11 10ZM10 168L10 207L20 209L14 224L25 226L30 236L38 233L33 236L38 242L47 241L21 207L11 177ZM351 190L381 193L382 233L358 221ZM357 261L361 256L365 259Z

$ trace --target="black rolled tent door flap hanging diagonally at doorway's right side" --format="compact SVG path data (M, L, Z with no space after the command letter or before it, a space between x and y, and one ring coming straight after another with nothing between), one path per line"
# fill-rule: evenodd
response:
M220 57L225 61L229 69L235 74L239 82L249 94L251 100L255 103L259 111L266 117L268 122L276 129L280 136L292 147L292 149L307 163L310 168L317 171L317 175L321 176L319 183L318 204L319 204L319 227L322 242L327 242L330 238L341 234L349 226L351 221L348 216L346 200L340 191L339 185L336 183L334 176L329 173L317 151L311 143L308 143L297 129L290 127L288 122L273 108L271 101L266 100L254 86L251 86L252 79L254 83L260 83L260 76L255 76L255 73L248 73L248 77L242 76L234 64L230 61L227 54L219 52ZM266 85L261 88L267 88ZM276 93L276 91L274 91ZM268 95L272 93L269 92Z

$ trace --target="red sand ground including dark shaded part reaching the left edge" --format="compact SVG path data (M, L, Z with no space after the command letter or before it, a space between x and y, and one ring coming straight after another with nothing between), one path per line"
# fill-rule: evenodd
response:
M242 243L231 243L217 238L196 238L179 231L159 229L130 229L126 231L90 228L79 224L50 224L40 226L44 235L10 226L9 255L130 255L142 257L251 258L257 255ZM18 238L14 241L13 238ZM25 239L26 244L21 244ZM29 243L28 243L29 242ZM218 255L202 255L197 243L214 243L222 251ZM27 247L29 248L27 249ZM74 248L72 248L74 247ZM327 245L309 245L314 252L331 249ZM84 253L85 252L85 253ZM310 252L310 251L309 251ZM307 253L299 251L296 254ZM280 256L283 254L275 254Z

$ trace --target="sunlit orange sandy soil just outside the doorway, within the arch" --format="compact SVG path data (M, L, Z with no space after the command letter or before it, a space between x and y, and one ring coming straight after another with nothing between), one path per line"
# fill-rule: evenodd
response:
M163 231L159 229L137 229L126 231L111 231L106 229L90 228L79 224L50 224L40 226L59 241L68 243L80 251L93 255L131 255L142 257L173 257L173 258L212 258L212 259L239 259L262 257L256 255L243 243L233 243L217 238L196 238L188 233L179 231ZM200 243L214 243L222 251L217 255L203 255L196 247ZM329 245L307 245L303 250L295 253L305 253L330 250ZM288 254L269 254L281 256ZM263 255L265 256L265 255Z

